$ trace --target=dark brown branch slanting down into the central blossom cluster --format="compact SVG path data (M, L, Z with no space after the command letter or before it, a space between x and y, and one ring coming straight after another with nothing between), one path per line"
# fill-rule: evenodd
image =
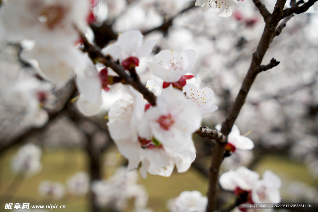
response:
M111 58L109 55L105 56L101 53L100 49L98 47L95 47L93 44L89 43L85 36L82 35L83 44L85 46L84 51L87 51L89 54L89 57L93 61L99 61L100 63L103 63L106 67L109 67L114 70L119 76L123 78L122 83L129 84L133 88L135 88L137 91L139 91L143 98L147 99L148 102L154 106L156 105L156 96L152 92L149 91L148 88L146 88L138 78L134 78L130 76L124 69L124 67L118 63L116 63L113 58Z

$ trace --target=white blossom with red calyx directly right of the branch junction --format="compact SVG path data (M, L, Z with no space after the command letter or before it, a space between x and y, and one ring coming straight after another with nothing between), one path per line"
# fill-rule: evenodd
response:
M217 124L215 129L218 131L221 130L221 125ZM227 138L226 150L229 152L234 152L236 148L242 150L250 150L254 148L254 143L251 139L247 138L244 135L241 135L239 131L239 127L237 125L233 125L231 133Z

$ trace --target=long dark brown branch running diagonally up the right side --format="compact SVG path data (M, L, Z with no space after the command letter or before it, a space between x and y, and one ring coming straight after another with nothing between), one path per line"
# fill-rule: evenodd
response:
M256 51L252 54L252 61L250 68L243 80L241 89L239 90L239 93L237 97L235 98L235 101L233 102L225 120L222 123L221 133L227 136L234 125L235 120L237 119L239 112L245 103L246 96L248 92L251 89L251 86L254 82L254 80L257 77L257 74L259 73L260 68L264 68L266 66L261 66L262 60L264 58L264 55L269 48L269 44L271 41L271 38L273 37L273 34L276 30L276 27L279 23L279 21L284 17L283 16L283 8L286 3L286 0L277 0L277 3L275 5L275 8L273 10L273 14L269 17L267 12L264 12L264 8L260 3L256 0L253 0L253 2L257 3L258 8L262 15L264 15L266 18L264 18L264 21L266 22L265 28L262 34L262 37L259 40L259 44L257 46ZM277 62L276 62L277 63ZM275 64L275 63L273 63ZM211 160L211 167L209 170L209 188L208 188L208 206L207 211L212 212L217 209L217 188L218 188L218 172L219 168L221 166L221 163L224 159L224 150L225 150L225 143L219 143L217 142L213 149L212 154L212 160Z

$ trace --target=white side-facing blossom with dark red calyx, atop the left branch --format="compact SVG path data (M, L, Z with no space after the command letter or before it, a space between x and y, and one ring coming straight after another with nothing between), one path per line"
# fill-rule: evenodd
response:
M120 60L125 69L139 65L139 59L148 56L156 41L148 40L142 45L143 35L138 30L127 31L118 36L117 41L102 49L104 55Z

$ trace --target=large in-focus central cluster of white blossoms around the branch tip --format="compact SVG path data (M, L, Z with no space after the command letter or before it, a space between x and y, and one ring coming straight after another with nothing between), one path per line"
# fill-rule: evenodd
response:
M119 60L133 75L139 59L149 55L156 44L149 40L142 45L142 38L139 31L128 31L102 51ZM148 62L154 75L163 81L156 85L154 80L148 80L146 85L157 96L155 106L135 89L127 85L122 88L122 98L109 110L107 125L119 151L129 161L129 170L137 168L140 162L143 177L147 171L170 176L175 166L180 173L190 168L196 156L192 133L201 125L202 115L217 109L211 105L211 88L198 90L186 84L186 79L194 77L185 74L195 61L194 50L178 55L163 50Z

